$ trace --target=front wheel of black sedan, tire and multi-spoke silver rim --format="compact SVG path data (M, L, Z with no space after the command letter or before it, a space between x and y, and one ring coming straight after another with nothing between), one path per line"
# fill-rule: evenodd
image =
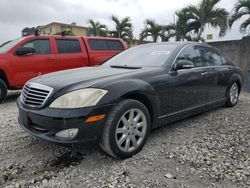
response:
M132 157L145 145L150 127L148 109L139 101L126 99L109 114L100 146L115 158Z

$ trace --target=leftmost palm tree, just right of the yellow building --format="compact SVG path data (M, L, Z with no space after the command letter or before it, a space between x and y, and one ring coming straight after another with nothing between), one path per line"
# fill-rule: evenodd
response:
M90 19L88 21L89 23L89 29L88 34L91 36L107 36L107 26L104 24L101 24L100 22L95 22L94 20Z

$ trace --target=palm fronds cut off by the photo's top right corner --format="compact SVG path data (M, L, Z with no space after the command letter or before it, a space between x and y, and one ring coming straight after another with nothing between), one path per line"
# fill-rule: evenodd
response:
M245 33L250 26L250 0L239 0L236 3L233 14L229 19L229 26L232 27L234 22L243 16L248 16L248 18L240 26L241 33Z

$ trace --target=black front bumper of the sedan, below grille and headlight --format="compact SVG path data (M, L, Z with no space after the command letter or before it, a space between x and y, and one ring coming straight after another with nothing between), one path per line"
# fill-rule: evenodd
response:
M17 100L19 109L18 121L23 130L41 139L62 143L74 144L98 141L110 109L114 105L96 106L82 109L51 109L34 110L25 108L20 99ZM105 118L85 123L91 116L105 114ZM57 137L56 133L62 130L77 128L78 133L74 138Z

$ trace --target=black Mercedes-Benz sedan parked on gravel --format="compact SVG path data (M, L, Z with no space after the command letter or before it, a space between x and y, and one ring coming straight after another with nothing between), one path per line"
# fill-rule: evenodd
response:
M100 66L30 80L17 104L28 133L56 143L98 141L128 158L161 125L237 104L242 72L207 44L155 43L130 48Z

